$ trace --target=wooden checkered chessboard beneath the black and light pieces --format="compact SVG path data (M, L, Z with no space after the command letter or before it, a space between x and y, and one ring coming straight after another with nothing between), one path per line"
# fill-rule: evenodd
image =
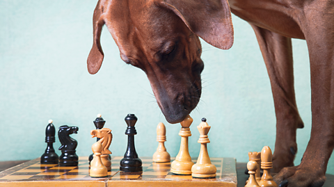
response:
M36 158L0 172L0 186L237 186L234 158L211 158L217 168L212 179L172 174L170 163L154 163L150 157L141 157L143 172L121 172L120 159L122 156L111 158L108 177L92 178L88 156L79 156L78 166L66 167L41 164L40 158Z

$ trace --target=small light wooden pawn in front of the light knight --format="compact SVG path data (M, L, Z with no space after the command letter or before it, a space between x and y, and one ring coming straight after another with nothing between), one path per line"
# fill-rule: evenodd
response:
M106 166L103 165L101 160L102 144L100 142L94 143L92 145L92 150L94 152L94 156L89 170L90 177L107 177L108 170L106 169Z

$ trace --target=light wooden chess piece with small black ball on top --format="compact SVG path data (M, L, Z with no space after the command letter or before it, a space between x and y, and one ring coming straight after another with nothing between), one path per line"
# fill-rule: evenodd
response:
M200 155L198 156L197 163L191 167L192 177L216 177L216 166L211 163L209 153L207 152L207 143L210 143L207 133L209 133L210 128L209 124L207 124L207 119L203 117L202 122L197 127L198 131L200 131L200 138L198 139L198 143L200 143Z

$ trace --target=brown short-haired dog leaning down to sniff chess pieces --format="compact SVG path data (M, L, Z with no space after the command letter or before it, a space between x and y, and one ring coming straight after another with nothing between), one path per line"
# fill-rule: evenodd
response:
M269 72L277 119L273 170L280 171L275 181L322 186L334 147L333 1L100 0L88 71L95 74L101 67L100 35L106 24L122 60L147 74L166 120L181 122L200 99L204 66L198 37L229 49L231 11L253 26ZM294 96L291 38L307 41L311 67L312 133L298 166L293 166L296 129L303 122Z

